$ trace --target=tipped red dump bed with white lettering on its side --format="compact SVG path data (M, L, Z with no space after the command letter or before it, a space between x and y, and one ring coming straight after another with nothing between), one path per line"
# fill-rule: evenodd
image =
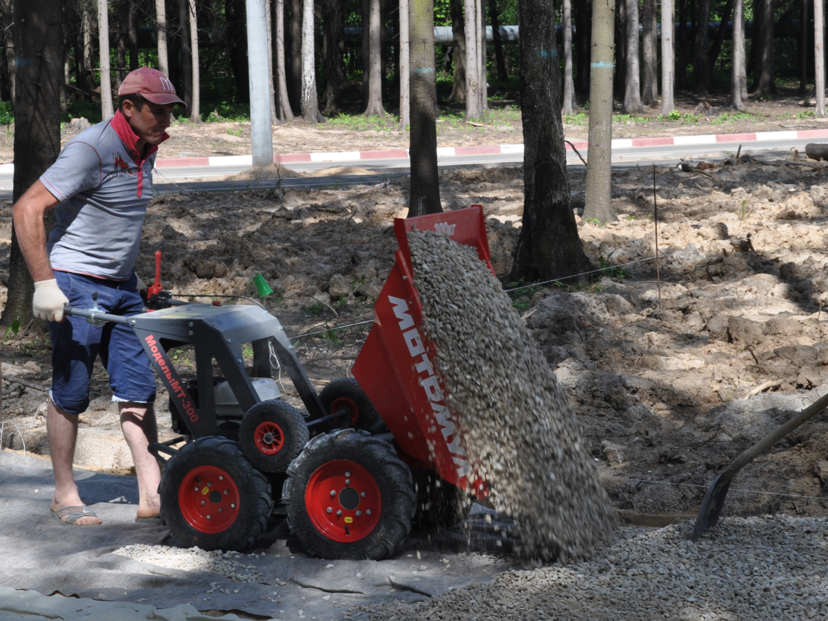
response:
M480 205L395 219L400 249L374 305L376 323L354 363L354 378L392 431L402 459L412 467L436 470L441 479L484 496L485 481L474 474L455 416L445 407L435 345L423 328L408 248L407 232L412 229L444 233L458 243L474 246L479 258L492 269Z

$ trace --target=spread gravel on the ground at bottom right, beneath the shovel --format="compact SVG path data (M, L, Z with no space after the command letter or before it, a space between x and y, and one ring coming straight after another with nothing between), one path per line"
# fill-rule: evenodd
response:
M691 528L623 528L596 561L509 571L418 604L375 607L369 618L828 618L826 518L729 517L696 543Z

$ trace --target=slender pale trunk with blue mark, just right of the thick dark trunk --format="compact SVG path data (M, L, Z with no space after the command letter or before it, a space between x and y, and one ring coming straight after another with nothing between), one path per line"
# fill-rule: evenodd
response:
M663 0L667 4L667 0ZM590 159L586 166L585 219L612 222L610 202L613 140L613 25L615 0L595 0L592 8L590 77ZM665 20L662 19L662 29ZM662 30L663 31L663 30ZM524 127L526 121L523 122Z

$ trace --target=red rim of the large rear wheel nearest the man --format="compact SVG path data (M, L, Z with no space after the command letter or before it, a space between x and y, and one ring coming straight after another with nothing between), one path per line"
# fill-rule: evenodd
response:
M181 515L195 530L222 532L238 517L238 488L223 469L198 466L181 481L178 506Z

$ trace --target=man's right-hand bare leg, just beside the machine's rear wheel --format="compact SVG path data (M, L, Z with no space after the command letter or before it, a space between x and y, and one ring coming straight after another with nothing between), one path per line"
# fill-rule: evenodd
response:
M118 403L118 407L121 410L121 430L132 453L138 478L137 517L155 517L161 510L161 498L158 496L161 469L156 458L147 450L151 442L158 441L155 409L152 403L135 402Z

